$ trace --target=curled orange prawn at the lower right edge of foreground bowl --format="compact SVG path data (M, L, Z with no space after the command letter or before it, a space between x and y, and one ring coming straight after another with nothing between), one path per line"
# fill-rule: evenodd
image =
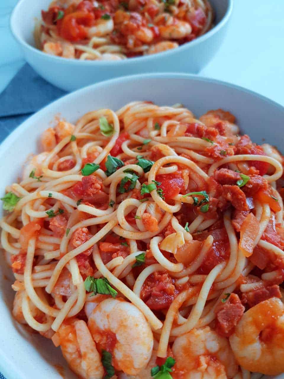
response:
M229 338L239 364L266 375L284 372L284 304L278 298L245 312Z

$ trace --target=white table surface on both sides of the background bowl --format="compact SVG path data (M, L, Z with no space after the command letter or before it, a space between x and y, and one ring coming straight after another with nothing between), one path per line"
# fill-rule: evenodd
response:
M16 3L0 0L0 92L23 65L9 31ZM284 105L284 0L234 3L226 40L200 75L252 89Z

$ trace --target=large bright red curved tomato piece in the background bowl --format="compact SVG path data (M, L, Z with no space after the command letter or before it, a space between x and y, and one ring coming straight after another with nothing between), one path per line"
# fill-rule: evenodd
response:
M93 13L78 11L67 14L63 17L62 22L58 23L59 35L71 42L80 41L87 37L85 27L90 27L93 20Z

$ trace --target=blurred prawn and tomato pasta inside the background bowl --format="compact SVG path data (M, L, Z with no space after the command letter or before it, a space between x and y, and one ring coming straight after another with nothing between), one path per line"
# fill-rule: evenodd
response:
M42 10L43 52L81 60L122 60L174 49L212 25L208 0L53 1Z

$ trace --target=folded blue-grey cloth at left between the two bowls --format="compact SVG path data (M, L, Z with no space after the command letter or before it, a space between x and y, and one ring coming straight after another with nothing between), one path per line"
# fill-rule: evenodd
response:
M65 94L25 64L0 94L0 142L31 114Z

